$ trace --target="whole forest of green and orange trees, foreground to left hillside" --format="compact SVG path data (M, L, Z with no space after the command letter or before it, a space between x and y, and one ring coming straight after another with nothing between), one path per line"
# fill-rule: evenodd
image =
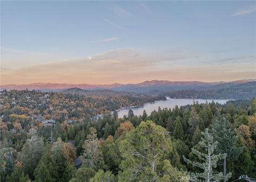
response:
M116 111L161 98L4 90L1 181L255 180L255 99Z

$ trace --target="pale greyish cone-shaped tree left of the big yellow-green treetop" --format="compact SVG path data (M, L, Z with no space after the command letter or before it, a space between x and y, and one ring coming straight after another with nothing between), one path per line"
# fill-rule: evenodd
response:
M102 151L100 149L99 140L97 138L96 129L90 128L90 134L87 135L87 140L83 145L83 165L82 167L90 167L97 171L104 167Z

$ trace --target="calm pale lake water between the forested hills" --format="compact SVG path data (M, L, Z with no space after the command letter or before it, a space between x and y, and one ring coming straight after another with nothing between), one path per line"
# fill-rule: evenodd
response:
M208 102L211 102L214 100L214 102L218 103L226 103L228 100L216 100L216 99L209 99ZM198 103L205 103L205 99L195 99L195 101L198 101ZM174 108L177 106L185 106L185 105L191 105L193 103L193 99L171 99L167 97L167 100L161 100L161 101L155 101L155 103L146 103L144 107L136 107L131 108L133 110L134 115L142 115L143 110L146 110L147 114L149 115L151 111L158 110L158 107L160 106L161 109L163 108ZM118 111L118 116L123 117L124 115L128 114L129 109L121 109Z

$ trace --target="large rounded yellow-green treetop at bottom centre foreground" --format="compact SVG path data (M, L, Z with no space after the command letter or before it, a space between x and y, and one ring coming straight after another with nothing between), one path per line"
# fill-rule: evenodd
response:
M120 146L124 160L118 181L174 181L175 175L181 175L167 160L173 148L166 133L152 121L141 122L127 133Z

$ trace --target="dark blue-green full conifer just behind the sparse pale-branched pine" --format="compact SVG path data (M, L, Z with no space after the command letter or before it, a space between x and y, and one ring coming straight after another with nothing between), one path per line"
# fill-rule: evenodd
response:
M217 153L226 153L223 159L223 175L226 176L226 163L235 161L243 151L243 147L237 147L238 136L235 129L231 129L230 123L225 119L214 120L212 124L212 136L217 141ZM226 181L226 179L224 179Z

